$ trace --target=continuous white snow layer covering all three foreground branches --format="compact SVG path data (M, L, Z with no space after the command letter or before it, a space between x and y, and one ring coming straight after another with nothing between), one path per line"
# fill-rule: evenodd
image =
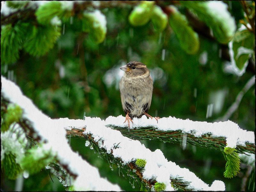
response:
M77 174L78 177L74 181L75 190L114 190L120 191L120 187L109 183L107 180L100 178L100 174L95 167L92 167L81 156L73 152L68 145L66 139L66 130L72 127L76 129L85 128L84 134L91 133L94 141L100 142L100 146L106 149L108 153L112 152L114 157L119 157L124 164L129 163L138 158L146 160L145 170L143 172L144 179L156 179L157 182L166 184L168 190L173 190L170 184L170 177L181 177L184 182L190 182L187 189L193 190L225 190L222 181L214 181L212 186L200 180L193 172L187 168L180 168L174 162L168 161L160 149L154 152L141 144L138 140L131 140L124 137L121 132L106 127L107 124L115 124L121 127L127 127L123 116L109 116L105 121L98 117L85 117L85 120L73 120L68 118L50 119L38 110L32 101L25 97L18 86L1 77L2 94L13 103L17 103L24 109L23 118L28 118L32 122L35 131L48 142L48 147L57 153L57 157L61 164L66 164L68 169ZM213 136L227 137L228 147L235 147L237 141L244 144L245 141L254 143L253 132L247 132L239 128L237 124L231 121L207 123L193 122L189 119L182 120L175 117L163 117L158 120L147 119L142 116L140 119L134 118L132 128L140 126L154 126L158 130L182 130L190 133L194 131L194 135L199 137L202 134L211 132ZM65 129L63 129L65 128ZM117 146L118 144L118 146ZM88 143L86 143L88 145ZM47 145L46 145L47 146ZM116 147L117 146L117 147ZM88 174L90 172L90 174Z

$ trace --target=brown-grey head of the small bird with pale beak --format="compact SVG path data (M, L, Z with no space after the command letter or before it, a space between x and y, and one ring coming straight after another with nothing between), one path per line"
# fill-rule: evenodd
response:
M130 77L149 76L149 70L146 65L138 61L131 61L120 67L125 72L125 75Z

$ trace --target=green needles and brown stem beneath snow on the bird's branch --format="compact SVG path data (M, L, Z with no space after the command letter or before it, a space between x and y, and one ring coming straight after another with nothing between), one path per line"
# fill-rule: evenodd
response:
M211 133L195 137L193 134L183 133L182 130L177 131L159 131L155 127L139 127L136 129L128 129L115 125L107 125L114 130L120 131L124 136L137 140L158 140L170 143L182 143L184 137L187 137L187 143L197 147L214 148L223 151L226 147L225 137L211 137ZM246 146L237 145L238 153L255 153L255 144L246 143Z

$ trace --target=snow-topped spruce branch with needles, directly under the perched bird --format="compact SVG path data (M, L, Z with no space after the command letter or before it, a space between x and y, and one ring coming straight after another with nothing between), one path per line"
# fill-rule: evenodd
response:
M105 124L119 130L124 136L140 140L160 140L163 142L189 143L198 147L224 150L236 148L239 153L255 153L254 132L241 129L232 121L199 122L175 117L163 117L158 120L142 116L134 118L130 131L126 129L123 116L109 116ZM113 123L114 122L114 123Z

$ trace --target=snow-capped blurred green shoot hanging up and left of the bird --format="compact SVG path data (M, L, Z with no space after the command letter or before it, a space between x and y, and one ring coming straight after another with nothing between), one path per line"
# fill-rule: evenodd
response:
M96 44L102 43L106 37L106 17L99 10L84 12L82 30L88 32Z

